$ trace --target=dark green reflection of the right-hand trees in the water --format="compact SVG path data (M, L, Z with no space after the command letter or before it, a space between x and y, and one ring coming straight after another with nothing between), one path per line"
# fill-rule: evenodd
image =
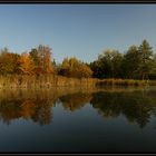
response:
M90 104L103 117L126 116L128 121L137 123L140 128L149 121L156 99L136 92L98 92L92 95Z

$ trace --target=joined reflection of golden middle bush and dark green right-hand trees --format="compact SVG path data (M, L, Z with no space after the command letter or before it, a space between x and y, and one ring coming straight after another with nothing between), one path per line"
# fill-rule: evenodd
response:
M90 104L104 118L116 118L124 115L129 123L136 123L140 128L149 121L150 115L156 115L156 97L149 91L98 91L77 92L61 96L59 99L66 110L75 111Z

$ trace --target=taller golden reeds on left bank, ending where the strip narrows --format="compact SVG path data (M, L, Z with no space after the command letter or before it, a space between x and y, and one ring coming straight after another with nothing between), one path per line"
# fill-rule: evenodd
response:
M67 78L57 75L0 76L0 88L50 88L50 87L95 87L94 78Z

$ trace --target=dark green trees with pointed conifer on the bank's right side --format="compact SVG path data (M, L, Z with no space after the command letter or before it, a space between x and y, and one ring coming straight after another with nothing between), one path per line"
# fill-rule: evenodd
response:
M130 46L120 53L118 50L106 50L90 64L97 78L155 79L156 55L147 40L140 46Z

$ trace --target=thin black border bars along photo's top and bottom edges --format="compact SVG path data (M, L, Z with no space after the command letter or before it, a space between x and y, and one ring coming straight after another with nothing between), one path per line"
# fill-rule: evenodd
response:
M0 4L156 4L156 0L0 0ZM156 155L156 153L143 153L143 152L138 152L138 153L124 153L124 152L119 152L119 153L0 153L0 155L13 155L13 156L27 156L27 155L32 155L32 156L50 156L50 155L56 155L56 156L60 156L60 155L65 155L65 156L79 156L79 155L85 155L85 156L101 156L101 155L108 155L108 156L131 156L131 155L138 155L138 156L144 156L144 155Z

